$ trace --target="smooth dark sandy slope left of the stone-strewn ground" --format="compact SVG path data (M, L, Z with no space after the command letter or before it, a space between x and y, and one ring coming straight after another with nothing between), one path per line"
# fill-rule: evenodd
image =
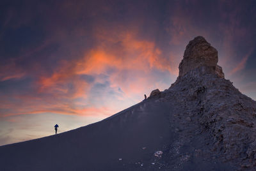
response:
M5 145L0 147L1 166L4 170L116 170L123 163L140 162L168 144L168 110L163 110L167 108L148 101L77 130Z

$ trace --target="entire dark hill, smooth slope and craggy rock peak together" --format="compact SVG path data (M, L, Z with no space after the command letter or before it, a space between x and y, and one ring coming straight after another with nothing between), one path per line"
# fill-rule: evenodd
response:
M255 170L256 102L217 63L198 36L169 89L99 123L4 145L1 170Z

